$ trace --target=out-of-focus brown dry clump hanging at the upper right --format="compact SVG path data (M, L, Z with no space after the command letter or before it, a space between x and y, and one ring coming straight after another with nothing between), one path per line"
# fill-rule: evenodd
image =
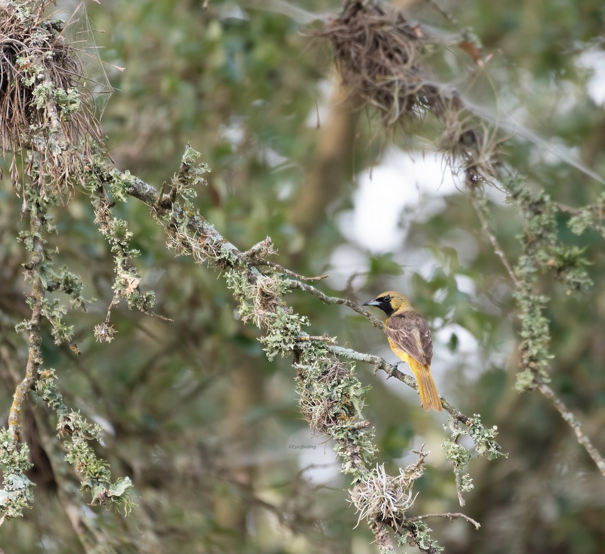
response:
M494 176L499 163L495 132L488 132L456 91L441 86L425 67L425 51L443 46L437 37L379 0L349 0L314 34L332 43L342 82L362 108L376 108L385 126L432 114L442 125L436 148L446 164L463 171L469 185Z

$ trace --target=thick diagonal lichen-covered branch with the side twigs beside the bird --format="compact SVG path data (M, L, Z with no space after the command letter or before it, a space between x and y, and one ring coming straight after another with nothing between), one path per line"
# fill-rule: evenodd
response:
M194 162L197 157L197 152L188 146L181 168L188 168L190 180L199 177L198 172L208 171L202 165L196 172ZM413 504L410 501L411 483L422 475L422 462L427 453L423 452L419 463L413 468L410 466L402 470L404 473L399 477L389 477L381 466L370 469L369 464L374 458L376 446L372 442L373 429L361 414L365 389L355 377L353 367L343 363L341 358L371 363L376 370L387 371L391 367L381 357L338 347L332 344L334 341L329 337L309 336L303 330L303 327L309 325L309 321L305 316L293 313L283 296L298 288L327 304L347 305L377 327L383 327L382 322L355 302L324 295L312 285L289 279L291 272L284 272L281 266L273 268L272 272L261 271L261 267L272 267L265 259L273 252L270 239L261 241L247 252L241 252L195 210L191 203L194 192L192 187L185 186L183 180L179 180L178 189L173 186L169 191L166 187L157 191L137 177L122 174L117 169L105 169L101 165L95 166L93 174L88 178L98 178L108 184L114 195L128 194L144 201L164 227L170 248L180 255L193 256L200 264L208 262L222 270L227 287L232 289L239 302L241 320L251 321L265 331L266 334L260 341L267 357L293 357L302 415L313 431L335 440L335 451L342 462L341 472L351 474L353 478L354 487L350 494L358 507L360 519L368 520L368 525L383 550L394 548L385 524L393 529L399 542L403 541L402 522L405 521L405 512ZM417 389L410 376L399 371L394 374ZM456 420L468 426L466 434L473 437L479 454L486 454L490 459L502 455L500 446L494 440L495 428L485 429L479 416L467 417L449 403L443 402L443 405ZM398 480L401 479L405 482L399 483ZM376 498L371 491L379 483L384 484L385 495L390 498L388 517L372 507ZM399 494L397 491L403 490L402 487L409 494ZM413 523L405 526L405 536L411 536L416 541L415 544L428 544L433 548L431 545L434 543L428 536L427 529L422 523Z

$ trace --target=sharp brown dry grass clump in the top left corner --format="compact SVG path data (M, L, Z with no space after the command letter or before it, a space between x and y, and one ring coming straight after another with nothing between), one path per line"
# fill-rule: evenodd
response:
M47 175L61 189L90 159L90 139L102 143L82 63L62 22L44 15L48 4L0 1L0 150L15 155L13 185L21 155L22 174L37 175L43 193Z

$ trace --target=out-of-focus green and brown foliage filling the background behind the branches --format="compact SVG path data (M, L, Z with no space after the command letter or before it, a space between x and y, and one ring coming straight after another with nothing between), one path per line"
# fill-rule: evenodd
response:
M495 464L469 464L475 488L466 494L465 513L482 523L479 532L462 521L431 521L447 552L604 552L603 478L545 399L514 391L515 304L469 199L462 192L420 191L419 202L402 212L402 238L392 252L370 252L345 235L339 216L352 209L364 213L354 193L361 186L358 175L381 161L387 140L382 130L371 117L357 119L338 109L329 48L309 41L295 21L238 0L208 4L114 0L88 6L92 27L105 31L96 34L101 58L127 68L106 68L116 92L102 124L117 167L160 186L191 141L212 168L198 206L240 249L270 235L280 264L307 275L333 274L319 285L327 294L365 301L382 290L409 293L434 330L440 392L466 414L480 413L486 425L497 424L510 454ZM587 168L605 174L605 112L587 89L592 70L585 57L589 51L605 56L601 0L443 2L460 25L453 29L430 2L399 4L437 27L472 28L483 53L495 54L479 71L452 49L436 57L435 70L444 79L459 79L463 96L488 102L495 119L523 108L520 121L550 149L523 137L506 143L506 159L527 175L530 187L574 207L598 200L602 185L552 152L574 149ZM301 7L334 13L339 2L306 0ZM355 140L337 141L342 151L328 158L341 172L316 186L313 168L325 155L320 137L345 123ZM410 137L393 140L415 158L425 146ZM330 201L317 192L325 188ZM436 204L435 197L442 201ZM305 220L292 217L303 205L315 221L312 229L293 224ZM0 371L7 386L0 391L1 406L10 405L24 368L25 341L13 330L28 313L25 253L14 240L22 228L20 208L10 183L2 181ZM489 197L489 209L500 244L514 261L523 223L497 194ZM0 527L0 547L28 554L82 552L65 511L75 506L91 522L87 532L102 545L99 552L368 552L373 536L363 526L352 530L356 515L343 500L349 483L338 474L332 446L310 438L300 419L289 360L267 362L257 330L235 318L223 282L213 270L174 258L146 206L131 200L114 212L128 220L132 247L142 252L136 263L144 290L155 290L157 313L174 321L120 306L114 310L114 342L94 341L94 325L104 319L112 296L111 257L92 223L90 203L76 194L54 213L55 259L82 276L84 295L98 300L88 313L65 316L74 325L80 356L54 347L50 333L42 348L65 403L105 430L98 454L110 461L114 478L131 477L138 507L123 520L84 506L73 475L61 476L73 490L57 494L56 472L67 471L64 453L54 442L50 414L32 404L24 435L34 463L29 476L37 484L35 502L25 518ZM551 385L603 452L603 242L592 230L576 237L567 223L559 218L557 231L586 247L592 264L586 270L596 285L571 295L555 282L543 285L555 355ZM343 247L352 260L346 267L336 255ZM382 334L348 308L324 306L301 292L291 300L309 316L311 333L338 335L342 344L390 359ZM427 443L431 451L416 483L414 512L459 511L451 464L439 449L444 416L425 414L402 383L373 377L361 365L357 371L373 386L365 416L376 426L378 461L393 469L410 461L411 448Z

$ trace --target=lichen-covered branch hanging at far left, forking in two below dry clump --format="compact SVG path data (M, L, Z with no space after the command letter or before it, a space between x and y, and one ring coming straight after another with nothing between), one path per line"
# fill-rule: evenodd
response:
M35 177L36 175L34 175ZM11 406L8 419L8 436L10 441L3 440L0 448L0 464L4 472L4 490L0 513L2 517L18 517L22 509L31 500L31 482L22 474L27 469L27 446L19 445L21 429L21 414L25 400L30 390L35 389L45 402L57 414L57 431L60 437L67 437L64 443L67 455L65 460L72 463L79 475L82 490L88 490L93 497L93 503L110 504L128 511L132 506L129 499L131 482L128 477L111 482L108 464L97 458L91 440L102 440L101 429L98 425L90 425L80 412L70 410L63 402L56 385L56 374L52 369L44 368L42 357L42 323L50 325L54 342L60 345L67 342L73 345L71 337L73 328L66 325L63 319L67 308L57 299L46 298L46 293L59 290L71 297L74 307L85 308L82 298L82 283L73 274L62 267L59 272L53 270L53 252L47 247L45 233L53 229L48 207L57 203L57 194L50 194L48 189L45 197L37 180L24 186L27 210L30 213L30 230L21 233L21 241L31 253L30 262L25 264L26 278L32 282L32 292L28 305L32 310L31 318L17 325L18 331L28 333L28 357L25 378L16 387L15 399ZM4 432L3 432L4 438ZM11 454L11 458L8 454ZM8 461L5 461L8 460ZM9 463L12 461L12 466Z

